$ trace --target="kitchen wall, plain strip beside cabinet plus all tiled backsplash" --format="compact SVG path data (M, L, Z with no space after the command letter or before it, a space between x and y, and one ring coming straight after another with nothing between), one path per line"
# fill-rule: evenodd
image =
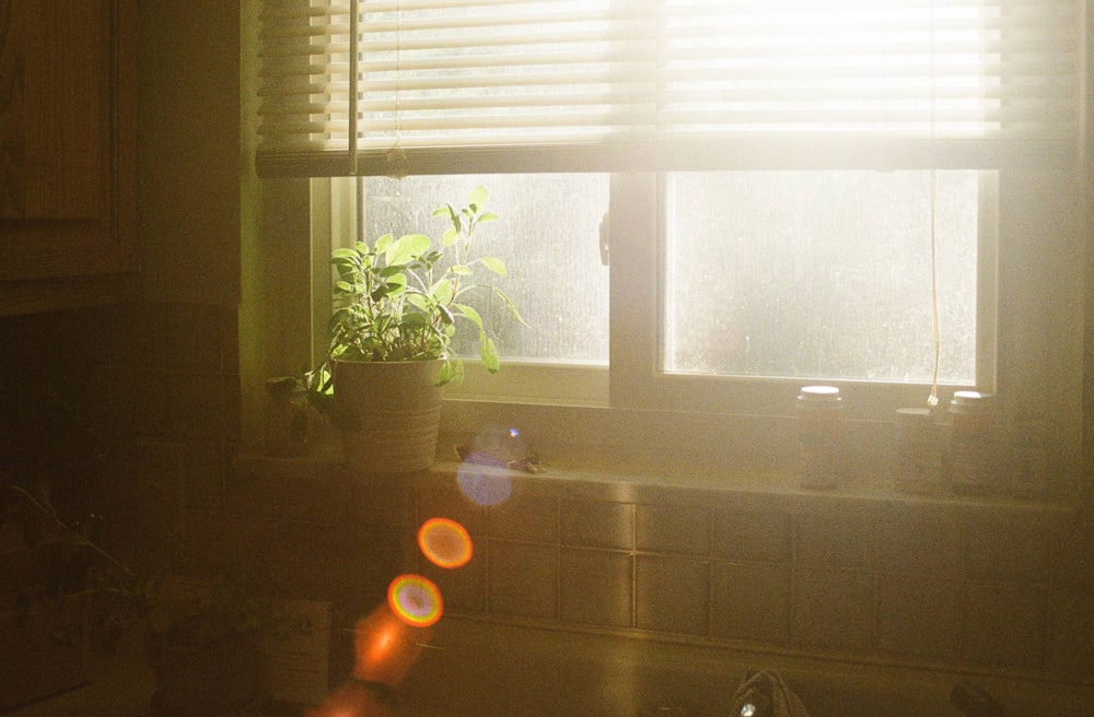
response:
M80 507L92 505L89 481L102 489L117 542L230 534L240 551L276 559L283 591L331 600L347 618L382 599L396 571L422 569L453 610L501 619L1094 674L1089 517L537 479L488 509L444 472L377 486L333 465L234 463L241 337L254 351L263 301L272 302L256 298L241 326L241 298L260 287L241 289L237 32L234 3L141 3L144 299L0 321L3 415L23 424L56 397L77 409L94 437L60 474L83 492ZM213 99L199 102L210 87ZM1085 353L1090 375L1089 339ZM254 362L244 362L248 386L261 375ZM1091 404L1087 392L1087 416ZM48 411L34 425L43 450L67 440ZM22 462L23 448L9 438L4 455ZM415 527L438 514L476 540L459 573L431 573L415 552Z

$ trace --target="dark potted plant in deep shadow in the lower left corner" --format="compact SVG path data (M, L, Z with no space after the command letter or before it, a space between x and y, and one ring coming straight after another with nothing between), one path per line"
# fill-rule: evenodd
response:
M53 536L74 555L63 574L43 565L3 590L19 614L44 620L58 644L83 649L112 651L123 631L140 631L155 675L155 715L244 715L265 704L261 638L294 625L256 561L228 560L212 548L168 550L136 567L66 521L47 496L18 482L8 489L30 508L18 528ZM26 542L28 560L38 560L36 540Z

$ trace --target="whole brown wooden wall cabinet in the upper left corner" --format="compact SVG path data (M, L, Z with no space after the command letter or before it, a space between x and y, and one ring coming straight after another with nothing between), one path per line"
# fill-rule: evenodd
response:
M0 315L137 286L136 0L0 0Z

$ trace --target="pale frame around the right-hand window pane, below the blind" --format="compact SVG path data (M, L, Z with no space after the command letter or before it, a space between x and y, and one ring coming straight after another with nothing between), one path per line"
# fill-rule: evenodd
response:
M976 384L939 384L938 395L970 389L997 392L998 187L979 172L977 237ZM824 376L754 377L667 374L663 366L666 187L663 175L613 177L610 404L619 408L780 415L805 384L839 386L856 415L888 420L896 408L926 407L929 383L834 379ZM617 314L615 307L627 307ZM944 340L944 337L943 337Z

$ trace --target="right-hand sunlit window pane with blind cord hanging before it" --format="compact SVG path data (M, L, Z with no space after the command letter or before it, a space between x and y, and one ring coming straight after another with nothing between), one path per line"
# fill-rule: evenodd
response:
M977 173L938 172L941 383L974 384ZM664 368L930 383L930 172L667 181Z

